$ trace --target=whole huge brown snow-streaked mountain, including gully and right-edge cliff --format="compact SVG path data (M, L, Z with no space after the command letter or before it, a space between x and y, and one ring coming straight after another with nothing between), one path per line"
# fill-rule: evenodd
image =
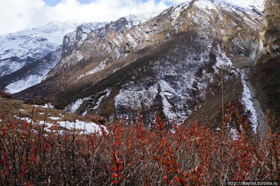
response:
M82 24L64 36L43 81L14 97L40 94L59 109L104 115L110 122L123 115L133 120L139 109L149 123L156 111L170 122L204 116L220 121L220 111L232 101L249 116L251 131L262 133L269 92L276 90L273 99L279 95L278 5L277 0L193 0L161 12ZM269 68L276 69L269 74L275 82L269 91L263 89L268 79L260 73L267 67L262 60L272 60Z

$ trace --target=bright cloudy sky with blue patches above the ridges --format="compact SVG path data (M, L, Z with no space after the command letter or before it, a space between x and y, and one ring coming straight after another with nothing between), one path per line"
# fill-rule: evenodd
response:
M112 21L163 10L184 0L0 0L0 35L43 26L50 21Z

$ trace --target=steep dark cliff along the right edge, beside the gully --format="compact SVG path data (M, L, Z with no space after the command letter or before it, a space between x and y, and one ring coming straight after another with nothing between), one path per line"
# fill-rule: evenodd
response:
M280 2L265 1L264 17L259 33L259 55L249 70L249 82L259 105L259 113L270 110L275 120L280 119ZM260 111L262 110L262 111ZM262 115L261 113L259 114ZM264 118L264 119L261 119ZM266 126L266 118L259 117L260 127ZM279 123L276 127L280 127Z

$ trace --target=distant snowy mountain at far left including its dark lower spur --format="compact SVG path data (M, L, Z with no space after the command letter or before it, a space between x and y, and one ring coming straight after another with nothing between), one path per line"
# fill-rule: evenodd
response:
M77 23L74 22L53 21L39 28L22 30L1 36L0 78L6 77L1 79L0 86L3 88L13 83L8 86L7 89L11 93L15 93L40 83L42 77L44 77L56 63L52 60L49 64L44 63L44 65L39 65L40 67L38 66L36 69L32 69L37 66L37 63L40 63L36 61L53 52L52 55L57 56L55 51L60 49L64 35L76 28ZM31 65L25 68L28 69L28 71L23 71L23 69L21 69L29 64ZM31 73L33 71L34 73ZM10 75L13 72L15 73Z

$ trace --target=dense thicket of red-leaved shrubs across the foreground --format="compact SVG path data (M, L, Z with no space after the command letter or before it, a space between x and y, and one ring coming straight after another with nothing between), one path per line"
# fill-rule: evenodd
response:
M236 138L226 126L237 117ZM273 118L267 113L268 125ZM7 113L0 117L8 120ZM168 131L156 116L147 129L138 115L105 123L101 134L50 131L26 121L0 127L1 185L221 185L227 180L279 180L280 136L272 129L260 141L246 134L237 109L229 105L220 131L195 123Z

